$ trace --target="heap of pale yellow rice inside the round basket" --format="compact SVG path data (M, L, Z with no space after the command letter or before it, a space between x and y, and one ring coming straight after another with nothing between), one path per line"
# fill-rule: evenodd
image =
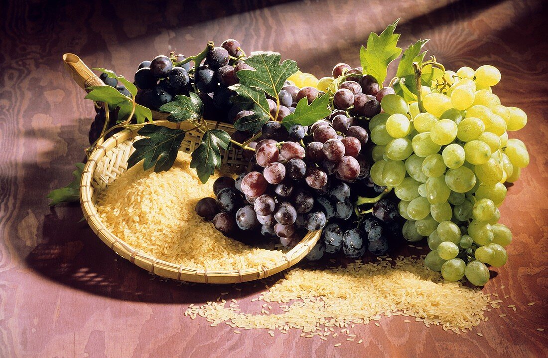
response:
M190 268L238 270L283 260L282 251L227 238L196 214L198 200L213 197L218 175L202 185L189 167L190 159L179 152L167 172L145 172L138 164L120 174L97 200L97 212L107 229L144 253Z

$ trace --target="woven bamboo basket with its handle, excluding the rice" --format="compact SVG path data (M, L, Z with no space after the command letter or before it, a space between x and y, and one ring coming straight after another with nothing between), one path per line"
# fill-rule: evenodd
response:
M63 60L67 70L82 88L103 85L102 81L78 56L65 54ZM186 122L172 123L163 121L165 120L165 113L153 111L153 118L155 121L159 120L158 124L161 123L163 126L169 128L184 130L192 128L191 124ZM209 128L224 129L229 134L235 132L235 129L226 123L210 121L207 121L207 123ZM137 129L122 130L105 140L104 143L97 145L88 157L80 183L80 202L85 220L101 241L124 259L153 274L169 279L201 283L237 283L262 279L283 271L298 263L316 245L320 232L310 231L302 238L298 245L284 254L282 256L283 259L276 262L273 266L259 265L258 267L239 270L216 271L176 265L152 257L128 245L128 243L125 243L106 228L99 218L95 205L97 194L127 169L127 160L134 150L133 142L140 138L142 137L137 134ZM202 134L197 130L187 132L180 150L187 153L192 152L201 142L201 138ZM237 149L221 150L221 158L222 163L229 167L241 168L248 164L242 160L241 151Z

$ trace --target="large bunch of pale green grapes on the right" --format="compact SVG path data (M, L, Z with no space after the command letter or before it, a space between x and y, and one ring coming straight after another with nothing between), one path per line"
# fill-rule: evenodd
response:
M485 285L487 265L504 265L512 241L498 223L499 207L504 183L529 164L526 145L508 136L526 125L527 115L500 103L492 91L500 78L490 65L442 71L432 86L419 85L414 101L385 95L383 112L369 122L371 178L393 188L407 220L403 236L427 237L425 264L448 281L466 277Z

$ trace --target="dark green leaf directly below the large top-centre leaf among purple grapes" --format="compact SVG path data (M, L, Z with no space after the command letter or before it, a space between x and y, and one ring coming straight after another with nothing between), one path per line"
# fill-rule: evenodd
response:
M242 131L249 130L251 133L259 132L262 125L271 118L270 107L265 93L262 90L243 86L241 83L237 83L229 88L236 92L236 95L231 98L232 103L242 110L253 112L249 116L237 120L234 123L234 128Z

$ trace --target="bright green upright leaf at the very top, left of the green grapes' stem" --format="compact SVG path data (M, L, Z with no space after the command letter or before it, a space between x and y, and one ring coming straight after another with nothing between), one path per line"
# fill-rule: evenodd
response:
M375 77L382 86L386 79L386 70L397 59L402 49L397 47L399 35L394 33L399 19L388 25L380 35L372 32L367 38L367 48L359 50L359 60L363 71Z

